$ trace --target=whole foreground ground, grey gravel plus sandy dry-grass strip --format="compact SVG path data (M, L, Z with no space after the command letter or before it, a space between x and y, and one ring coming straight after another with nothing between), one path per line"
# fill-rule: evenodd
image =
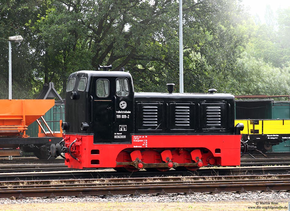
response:
M97 196L0 199L0 210L4 211L249 211L288 210L289 192L265 193L220 193L194 195L154 194L132 197L118 195L102 198Z

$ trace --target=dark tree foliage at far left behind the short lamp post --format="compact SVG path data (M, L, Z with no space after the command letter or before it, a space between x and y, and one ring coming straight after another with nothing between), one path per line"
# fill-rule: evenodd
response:
M32 71L29 43L31 30L25 24L35 19L42 1L8 1L0 4L0 98L8 98L8 37L22 35L22 43L12 42L12 97L30 98L32 90Z

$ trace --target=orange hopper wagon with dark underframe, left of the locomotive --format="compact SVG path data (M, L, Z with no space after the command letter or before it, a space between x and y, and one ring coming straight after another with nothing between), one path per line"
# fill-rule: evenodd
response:
M28 137L25 131L53 105L54 100L0 100L0 156L19 155L27 146L39 153L43 144L51 143L54 137Z

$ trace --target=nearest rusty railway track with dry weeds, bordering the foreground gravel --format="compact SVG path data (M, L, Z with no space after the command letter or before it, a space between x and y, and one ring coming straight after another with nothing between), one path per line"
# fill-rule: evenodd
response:
M158 177L127 179L94 179L94 180L58 180L26 181L0 183L0 198L12 196L18 199L25 197L59 196L99 196L114 197L126 194L140 197L142 194L168 195L170 193L195 194L196 192L235 191L288 191L290 175L256 175L256 176L214 176L214 177Z

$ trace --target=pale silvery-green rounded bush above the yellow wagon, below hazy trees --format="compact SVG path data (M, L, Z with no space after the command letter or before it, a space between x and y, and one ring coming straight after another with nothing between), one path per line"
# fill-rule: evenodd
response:
M247 52L239 60L239 71L228 84L233 94L289 95L290 68L275 68Z

